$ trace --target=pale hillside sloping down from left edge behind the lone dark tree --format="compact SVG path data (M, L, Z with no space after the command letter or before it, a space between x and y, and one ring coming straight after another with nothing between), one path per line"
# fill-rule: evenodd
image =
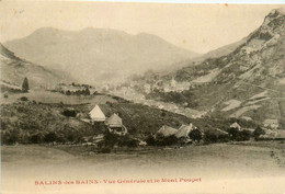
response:
M34 65L14 55L0 44L1 85L20 89L24 78L29 79L31 89L49 89L59 82L72 79L64 72L49 70Z

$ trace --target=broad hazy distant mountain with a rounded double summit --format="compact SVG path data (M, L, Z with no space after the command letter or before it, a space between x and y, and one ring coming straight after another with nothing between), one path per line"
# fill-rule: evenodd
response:
M198 56L151 34L92 27L79 32L45 27L4 45L22 58L84 82L122 79Z

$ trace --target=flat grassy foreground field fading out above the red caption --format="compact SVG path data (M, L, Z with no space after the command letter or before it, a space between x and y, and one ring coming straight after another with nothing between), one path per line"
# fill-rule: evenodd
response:
M58 167L69 163L71 167L81 163L94 169L103 166L104 169L96 170L106 173L109 173L109 170L112 173L115 167L138 171L155 168L158 171L168 170L166 173L170 173L172 170L172 173L196 172L202 174L219 171L228 176L276 175L285 172L285 144L282 144L282 141L214 144L183 148L147 147L136 151L128 149L117 153L100 155L82 146L44 147L20 145L2 146L1 152L4 171L13 171L10 167L20 163L24 163L23 166L26 167L34 164L44 167L55 163L59 164ZM19 168L22 168L22 166ZM83 171L83 169L81 170ZM215 175L215 173L210 175Z

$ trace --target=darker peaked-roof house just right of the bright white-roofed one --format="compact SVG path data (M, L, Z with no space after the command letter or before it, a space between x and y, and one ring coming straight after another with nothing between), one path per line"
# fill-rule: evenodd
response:
M105 121L105 125L107 126L109 130L111 133L117 134L117 135L126 135L127 128L123 125L122 118L114 113L111 117L109 117Z

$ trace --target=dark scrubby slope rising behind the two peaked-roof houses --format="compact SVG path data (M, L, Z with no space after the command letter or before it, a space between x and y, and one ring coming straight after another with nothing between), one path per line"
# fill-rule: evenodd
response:
M24 136L31 137L37 133L46 134L55 132L59 133L58 135L64 135L65 138L75 133L77 136L81 134L80 137L94 135L95 128L82 122L81 118L88 117L89 112L96 103L100 104L100 107L107 117L114 113L118 113L123 118L123 124L133 135L144 135L144 133L150 132L156 133L162 125L180 127L182 124L189 124L192 121L186 116L156 107L121 102L122 100L109 95L83 98L82 101L80 96L64 96L61 99L62 94L52 92L46 98L42 95L29 93L26 94L29 101L16 100L13 103L1 104L2 132L14 132L14 134L18 134L16 141L22 144L27 142L23 141ZM60 96L57 99L54 95ZM36 100L36 98L39 99ZM48 98L52 99L49 100ZM75 98L81 103L76 103ZM59 100L62 103L59 103ZM67 100L72 101L72 103L67 102ZM77 112L77 117L62 115L65 110L70 109Z

